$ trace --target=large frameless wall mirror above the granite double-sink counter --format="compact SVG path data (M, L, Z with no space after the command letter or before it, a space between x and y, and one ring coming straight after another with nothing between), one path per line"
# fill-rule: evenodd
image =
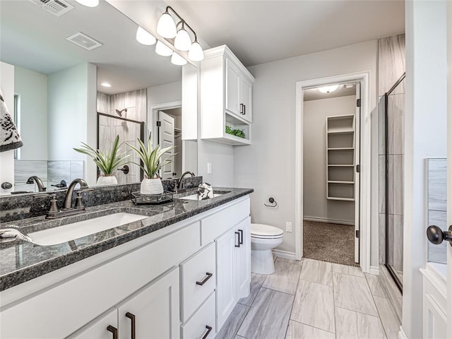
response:
M15 107L8 108L24 143L13 191L37 191L26 183L33 176L47 191L76 177L94 186L95 165L73 148L85 142L106 149L117 135L121 142L150 135L154 145L176 145L164 179L197 172L196 139L182 140L181 125L182 73L197 79L196 67L174 65L155 45L138 43L138 25L105 1L95 8L63 4L73 8L57 16L33 1L1 1L0 61L14 66ZM129 169L114 174L119 184L141 180L136 165Z

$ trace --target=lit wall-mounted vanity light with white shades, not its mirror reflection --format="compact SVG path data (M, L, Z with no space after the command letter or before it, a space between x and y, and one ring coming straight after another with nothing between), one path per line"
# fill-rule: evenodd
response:
M179 20L177 23L174 23L173 17L170 13L177 16L177 19ZM191 35L186 28L188 28L193 34L193 42L191 40ZM201 61L204 59L204 52L198 42L196 32L181 16L179 16L179 14L177 14L176 11L174 11L171 6L167 6L165 13L160 16L157 23L157 33L166 39L172 39L174 37L174 47L179 49L179 51L189 51L190 60Z

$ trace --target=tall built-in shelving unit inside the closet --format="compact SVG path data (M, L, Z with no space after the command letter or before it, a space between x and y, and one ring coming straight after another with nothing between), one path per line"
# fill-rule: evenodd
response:
M355 201L355 115L326 117L326 198Z

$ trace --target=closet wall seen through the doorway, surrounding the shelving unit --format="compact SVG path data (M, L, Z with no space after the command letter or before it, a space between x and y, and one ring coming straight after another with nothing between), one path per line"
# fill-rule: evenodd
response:
M303 215L353 223L354 201L326 198L326 117L355 114L356 95L310 100L303 105Z

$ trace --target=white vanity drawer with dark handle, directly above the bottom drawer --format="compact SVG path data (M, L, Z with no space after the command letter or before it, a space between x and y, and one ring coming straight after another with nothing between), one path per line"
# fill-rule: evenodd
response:
M215 290L215 280L215 244L212 243L181 264L182 322Z

